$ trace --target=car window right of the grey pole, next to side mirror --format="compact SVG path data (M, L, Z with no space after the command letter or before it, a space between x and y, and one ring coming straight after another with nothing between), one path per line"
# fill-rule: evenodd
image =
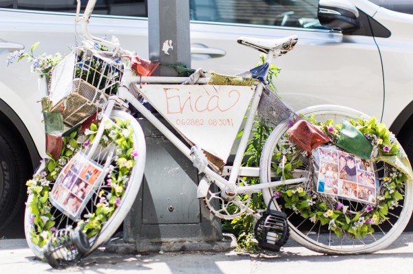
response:
M225 23L321 27L318 0L190 0L191 19Z

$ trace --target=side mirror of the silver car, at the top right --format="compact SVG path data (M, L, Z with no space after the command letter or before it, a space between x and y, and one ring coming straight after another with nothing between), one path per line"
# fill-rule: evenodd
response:
M349 32L361 27L357 20L359 10L347 0L320 0L317 16L321 25L330 30Z

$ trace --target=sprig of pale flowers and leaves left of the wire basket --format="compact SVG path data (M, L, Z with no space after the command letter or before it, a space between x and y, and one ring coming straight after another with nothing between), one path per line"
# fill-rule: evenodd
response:
M62 60L62 56L59 52L54 54L54 56L47 55L45 53L35 56L34 49L36 49L39 44L40 42L34 43L34 45L30 48L30 53L25 52L24 49L10 53L6 60L7 65L12 64L16 58L17 62L24 58L28 58L28 62L32 63L30 66L32 72L39 73L41 78L43 76L47 76L53 67L59 64Z

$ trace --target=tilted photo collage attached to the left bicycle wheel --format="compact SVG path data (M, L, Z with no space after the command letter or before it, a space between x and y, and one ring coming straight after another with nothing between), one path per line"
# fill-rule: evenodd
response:
M85 207L89 194L102 174L102 168L78 153L60 172L50 193L52 204L76 220Z

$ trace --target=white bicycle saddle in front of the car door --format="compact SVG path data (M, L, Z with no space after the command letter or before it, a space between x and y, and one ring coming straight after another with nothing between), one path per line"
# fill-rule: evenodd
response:
M268 52L273 49L274 57L282 56L283 54L289 52L291 49L293 49L295 44L297 44L297 41L298 37L296 35L279 39L240 37L237 40L238 43L252 47L253 49L257 49L258 51L264 52L265 54L268 54Z

